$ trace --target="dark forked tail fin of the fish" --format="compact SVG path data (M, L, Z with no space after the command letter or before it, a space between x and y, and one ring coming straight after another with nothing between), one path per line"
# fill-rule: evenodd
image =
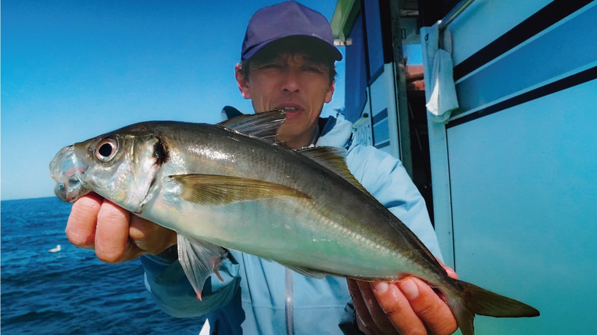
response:
M537 309L518 300L501 296L466 281L454 281L460 287L460 293L445 292L444 296L463 335L475 335L475 314L495 318L539 316Z

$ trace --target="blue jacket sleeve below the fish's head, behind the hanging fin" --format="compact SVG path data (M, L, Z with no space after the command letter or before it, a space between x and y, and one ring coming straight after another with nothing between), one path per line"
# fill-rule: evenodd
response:
M224 280L220 281L214 275L207 278L202 290L202 300L199 300L179 261L173 261L173 257L167 257L167 254L168 251L158 255L144 255L140 260L145 270L147 290L158 307L171 316L188 318L219 309L230 302L239 288L239 265L232 258L226 259L219 269Z

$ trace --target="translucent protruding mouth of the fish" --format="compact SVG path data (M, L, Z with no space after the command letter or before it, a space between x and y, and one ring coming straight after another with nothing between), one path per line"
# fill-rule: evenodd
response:
M62 201L75 202L88 193L83 183L85 171L87 165L75 155L75 147L63 147L50 162L50 177L56 180L56 196Z

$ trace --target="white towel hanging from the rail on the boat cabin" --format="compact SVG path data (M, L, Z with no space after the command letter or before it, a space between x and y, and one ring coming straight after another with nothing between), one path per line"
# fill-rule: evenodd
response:
M435 43L435 41L439 41L438 23L433 26L433 31L430 33L429 45ZM443 46L448 51L438 48L433 57L433 68L430 80L431 94L426 106L427 110L430 112L430 118L435 122L447 121L450 118L452 110L458 108L452 57L450 56L450 51L452 49L451 42L450 32L446 30L444 32ZM432 52L432 50L429 51Z

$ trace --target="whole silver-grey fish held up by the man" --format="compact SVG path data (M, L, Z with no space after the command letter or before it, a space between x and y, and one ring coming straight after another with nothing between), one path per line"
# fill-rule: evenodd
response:
M219 124L148 121L61 149L50 163L56 195L96 192L175 230L197 296L227 250L313 278L416 276L445 297L463 335L475 315L538 316L537 309L453 279L410 229L346 166L346 149L289 149L276 133L284 110ZM221 277L220 277L221 279Z

